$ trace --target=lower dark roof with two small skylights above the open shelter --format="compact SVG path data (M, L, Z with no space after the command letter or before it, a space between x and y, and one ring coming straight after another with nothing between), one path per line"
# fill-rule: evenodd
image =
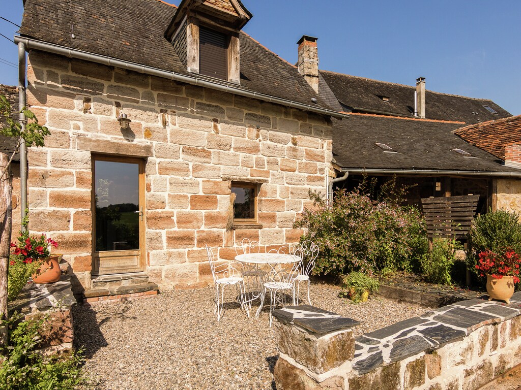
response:
M343 168L521 173L453 134L461 122L353 113L333 124L333 157ZM376 142L398 153L386 153ZM462 149L473 158L452 149Z

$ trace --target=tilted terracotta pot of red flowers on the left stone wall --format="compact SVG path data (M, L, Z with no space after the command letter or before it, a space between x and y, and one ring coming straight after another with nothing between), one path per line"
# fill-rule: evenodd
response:
M51 246L58 247L56 241L47 238L44 234L29 235L27 231L20 232L17 241L17 243L11 242L13 256L23 264L38 266L31 276L34 283L54 283L60 280L61 255L51 255L50 249Z

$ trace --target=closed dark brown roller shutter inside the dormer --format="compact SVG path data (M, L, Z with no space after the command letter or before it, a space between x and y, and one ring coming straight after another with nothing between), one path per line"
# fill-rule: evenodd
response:
M199 28L199 72L217 79L228 79L228 36L217 31Z

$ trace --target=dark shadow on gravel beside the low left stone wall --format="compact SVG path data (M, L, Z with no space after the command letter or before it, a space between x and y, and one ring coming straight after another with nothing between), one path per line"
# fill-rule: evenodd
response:
M96 311L91 307L78 305L72 307L72 318L75 348L83 349L84 358L92 358L98 349L108 345L100 330L100 325L108 320L108 317L98 324Z

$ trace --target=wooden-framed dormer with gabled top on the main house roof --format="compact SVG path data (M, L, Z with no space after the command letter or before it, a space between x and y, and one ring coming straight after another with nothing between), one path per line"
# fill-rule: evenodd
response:
M239 34L251 17L239 0L183 0L165 37L188 72L240 84Z

